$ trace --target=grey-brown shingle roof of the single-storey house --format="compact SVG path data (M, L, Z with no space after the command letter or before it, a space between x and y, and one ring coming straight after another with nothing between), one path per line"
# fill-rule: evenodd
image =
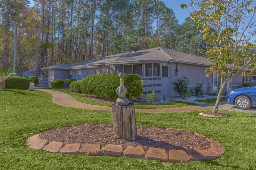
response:
M190 64L202 64L210 65L211 62L207 61L206 58L199 57L196 55L186 54L184 52L164 49L164 48L152 48L133 52L123 52L120 54L114 54L103 58L97 58L93 60L84 61L76 64L58 64L43 68L45 69L79 69L79 68L90 68L100 64L115 64L120 62L135 62L135 61L168 61L168 62L186 62Z

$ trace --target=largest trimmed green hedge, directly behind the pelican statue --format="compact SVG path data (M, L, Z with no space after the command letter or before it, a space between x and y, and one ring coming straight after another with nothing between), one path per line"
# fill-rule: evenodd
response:
M101 98L118 98L116 88L120 86L119 74L92 74L81 83L81 92ZM124 74L124 86L127 98L142 95L143 84L138 74Z

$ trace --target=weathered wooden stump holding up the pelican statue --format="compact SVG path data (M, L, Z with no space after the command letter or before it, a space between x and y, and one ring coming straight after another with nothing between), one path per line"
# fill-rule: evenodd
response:
M120 138L133 141L137 138L136 117L133 102L128 105L112 105L114 133Z

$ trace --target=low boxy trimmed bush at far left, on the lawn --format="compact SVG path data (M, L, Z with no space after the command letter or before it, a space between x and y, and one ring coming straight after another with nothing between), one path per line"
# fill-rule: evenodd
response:
M24 77L10 76L5 80L5 88L12 89L28 89L29 80Z

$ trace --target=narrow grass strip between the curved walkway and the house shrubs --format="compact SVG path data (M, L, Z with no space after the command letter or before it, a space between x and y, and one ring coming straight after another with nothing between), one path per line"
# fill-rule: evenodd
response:
M67 93L70 96L72 96L75 100L83 102L83 103L87 103L87 104L91 104L91 105L99 105L99 106L109 106L109 107L112 106L111 103L97 102L94 100L82 98L82 97L86 97L88 95L70 93L70 89L52 89L52 88L44 88L44 89L50 89L50 90ZM154 105L154 104L135 104L134 108L136 108L136 109L160 109L160 108L182 107L182 106L191 106L191 105L195 105L195 104L189 103L189 102L172 102L172 103L156 104L156 105Z

